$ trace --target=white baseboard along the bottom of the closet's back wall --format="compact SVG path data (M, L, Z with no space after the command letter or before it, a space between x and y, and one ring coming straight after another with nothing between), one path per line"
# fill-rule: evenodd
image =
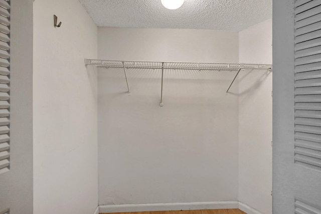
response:
M99 205L99 213L192 209L235 209L238 201Z

